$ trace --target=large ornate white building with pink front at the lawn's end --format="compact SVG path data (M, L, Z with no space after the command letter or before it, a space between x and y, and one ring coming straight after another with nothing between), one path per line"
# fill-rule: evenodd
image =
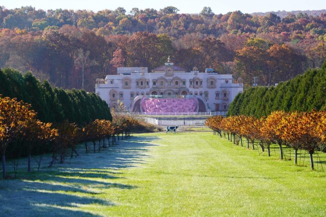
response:
M227 111L243 83L211 69L186 72L169 58L150 73L146 67L120 67L117 75L96 79L95 91L110 107L119 100L131 112L179 114Z

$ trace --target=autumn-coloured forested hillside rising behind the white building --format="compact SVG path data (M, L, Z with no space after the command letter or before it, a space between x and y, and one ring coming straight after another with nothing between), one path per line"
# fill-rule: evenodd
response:
M149 70L173 62L191 70L214 68L242 77L247 86L294 78L326 59L326 14L241 11L199 14L119 7L98 12L32 6L0 7L0 68L31 71L51 85L94 90L95 79L119 66Z

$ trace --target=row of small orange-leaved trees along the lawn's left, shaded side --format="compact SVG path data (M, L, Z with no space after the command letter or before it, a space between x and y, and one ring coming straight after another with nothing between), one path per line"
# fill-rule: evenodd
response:
M31 171L32 153L38 150L40 158L36 160L38 169L40 167L43 154L51 151L52 160L49 167L55 162L64 163L65 158L77 155L76 145L84 142L86 154L88 153L87 142L93 143L93 151L100 151L107 148L106 140L110 146L118 140L130 136L132 130L136 130L143 125L140 120L132 116L121 115L114 112L113 122L110 120L99 120L89 122L84 127L79 127L75 123L65 120L60 123L44 123L37 119L37 113L31 110L31 105L15 98L0 96L0 152L2 156L2 177L6 178L6 156L10 150L14 156L19 158L22 152L28 157L27 172ZM122 135L122 136L121 136ZM17 164L14 165L15 171ZM37 169L37 170L38 170Z

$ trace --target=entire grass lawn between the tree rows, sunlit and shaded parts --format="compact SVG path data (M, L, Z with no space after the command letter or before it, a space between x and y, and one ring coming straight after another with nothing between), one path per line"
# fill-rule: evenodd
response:
M136 134L87 156L81 146L70 164L0 181L0 216L325 216L326 172L277 151L200 131Z

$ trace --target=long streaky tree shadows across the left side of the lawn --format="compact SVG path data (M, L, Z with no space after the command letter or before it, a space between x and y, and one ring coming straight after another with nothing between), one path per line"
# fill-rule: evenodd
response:
M154 146L150 142L156 139L131 137L88 155L78 146L80 156L70 164L50 170L43 166L39 173L20 172L19 179L0 181L0 216L96 216L85 207L115 206L100 196L105 190L137 188L120 183L126 179L123 170L147 164L144 159L151 158L148 151Z

